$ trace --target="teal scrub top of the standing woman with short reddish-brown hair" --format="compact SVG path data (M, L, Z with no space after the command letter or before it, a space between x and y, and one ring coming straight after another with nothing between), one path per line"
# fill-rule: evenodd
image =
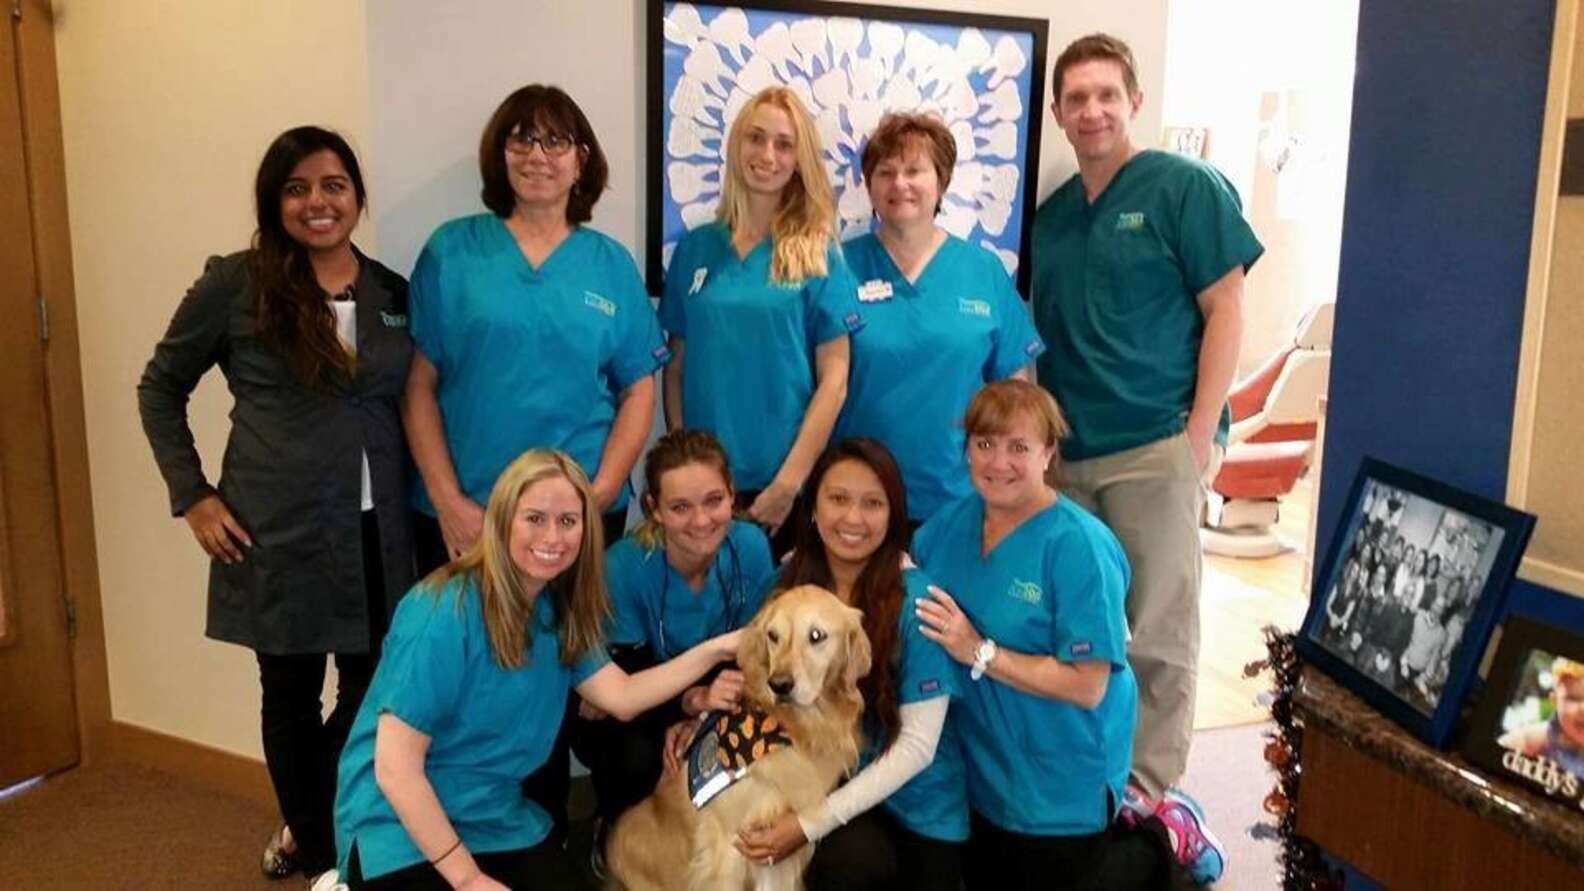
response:
M927 520L973 491L963 412L984 384L1012 376L1045 342L995 254L947 236L908 279L874 235L843 246L859 282L863 330L835 439L873 436L908 488L908 517Z

